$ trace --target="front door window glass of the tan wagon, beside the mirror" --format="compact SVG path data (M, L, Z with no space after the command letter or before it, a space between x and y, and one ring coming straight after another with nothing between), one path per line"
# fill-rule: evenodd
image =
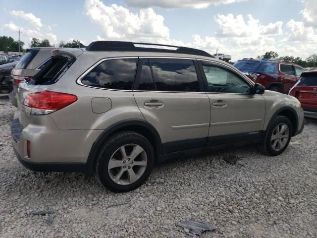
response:
M211 93L249 94L250 86L233 72L212 64L204 64L203 69Z

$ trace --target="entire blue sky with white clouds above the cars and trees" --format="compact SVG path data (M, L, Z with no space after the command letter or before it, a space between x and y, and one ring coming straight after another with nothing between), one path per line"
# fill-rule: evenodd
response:
M187 46L233 61L317 54L316 0L0 0L0 35Z

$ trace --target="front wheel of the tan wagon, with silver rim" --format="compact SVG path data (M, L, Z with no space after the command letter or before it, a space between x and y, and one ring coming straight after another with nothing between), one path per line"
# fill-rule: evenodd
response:
M283 153L292 138L292 123L284 116L277 116L269 124L260 150L264 154L276 156Z

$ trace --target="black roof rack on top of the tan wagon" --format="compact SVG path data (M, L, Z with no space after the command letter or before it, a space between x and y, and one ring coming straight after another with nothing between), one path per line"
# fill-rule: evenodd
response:
M140 45L141 47L135 47L134 45ZM163 47L173 47L176 50L170 49L159 49L159 48L149 48L142 47L146 46L163 46ZM183 46L171 46L153 43L143 43L143 42L129 42L129 41L94 41L86 47L86 51L142 51L142 52L163 52L163 53L178 53L178 54L189 54L189 55L199 55L212 57L209 53L202 50L197 50L194 48L183 47Z

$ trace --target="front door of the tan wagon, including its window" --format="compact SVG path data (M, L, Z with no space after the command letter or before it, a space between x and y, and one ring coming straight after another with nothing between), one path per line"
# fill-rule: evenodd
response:
M208 145L261 138L265 100L252 83L224 64L199 61L211 104Z

